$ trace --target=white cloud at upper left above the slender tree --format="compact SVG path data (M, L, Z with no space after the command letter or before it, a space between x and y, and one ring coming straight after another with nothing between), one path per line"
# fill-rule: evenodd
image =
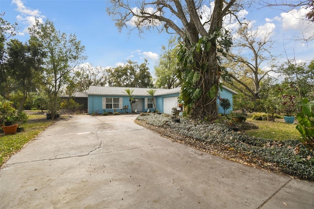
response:
M31 9L24 5L24 2L22 0L12 0L12 3L16 4L17 8L16 11L20 12L21 14L16 17L16 19L19 22L22 22L23 24L27 25L23 32L19 32L18 34L24 35L25 33L28 33L28 27L31 27L35 25L36 18L42 23L43 19L46 18L46 16L41 15L41 12L38 9Z

